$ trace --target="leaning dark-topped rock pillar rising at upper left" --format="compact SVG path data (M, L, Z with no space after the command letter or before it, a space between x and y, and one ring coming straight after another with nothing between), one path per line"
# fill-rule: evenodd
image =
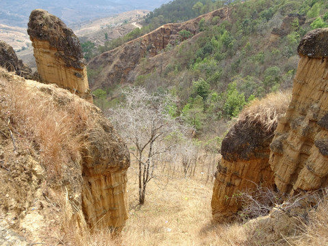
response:
M55 83L92 102L85 59L73 31L49 12L33 10L27 33L42 81Z

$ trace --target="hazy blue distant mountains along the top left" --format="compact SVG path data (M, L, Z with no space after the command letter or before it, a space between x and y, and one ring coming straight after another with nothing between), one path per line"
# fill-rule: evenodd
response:
M70 25L84 20L111 16L129 10L154 10L169 0L1 0L0 24L27 27L29 14L36 8L47 10Z

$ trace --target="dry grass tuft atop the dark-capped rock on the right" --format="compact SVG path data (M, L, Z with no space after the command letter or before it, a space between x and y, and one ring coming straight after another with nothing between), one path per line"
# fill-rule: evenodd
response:
M260 124L267 131L277 126L277 122L286 113L291 99L290 91L268 94L262 99L254 99L243 109L238 120L248 124Z

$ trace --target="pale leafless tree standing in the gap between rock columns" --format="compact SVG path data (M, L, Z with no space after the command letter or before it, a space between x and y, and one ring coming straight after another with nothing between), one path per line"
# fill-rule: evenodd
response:
M169 94L148 94L142 87L124 92L125 102L108 111L110 120L128 144L139 164L139 204L145 202L146 185L154 178L161 154L176 144L182 128L172 117L175 101Z

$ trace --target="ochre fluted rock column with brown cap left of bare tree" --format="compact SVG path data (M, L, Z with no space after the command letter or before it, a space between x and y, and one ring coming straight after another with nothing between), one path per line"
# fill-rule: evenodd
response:
M83 154L83 213L90 226L122 228L128 219L129 153L107 119L98 118L95 126L88 132L89 145Z

